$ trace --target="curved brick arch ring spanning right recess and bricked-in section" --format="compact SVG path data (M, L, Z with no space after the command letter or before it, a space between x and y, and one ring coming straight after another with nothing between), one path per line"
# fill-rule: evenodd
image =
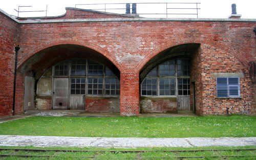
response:
M148 53L145 60L141 61L137 65L137 68L139 68L139 71L141 71L143 66L146 65L146 63L148 61L150 61L153 57L155 57L157 54L161 53L162 51L172 48L172 47L175 47L176 45L188 44L188 43L207 44L207 45L211 45L212 47L216 47L221 50L224 50L231 56L237 58L239 60L239 62L241 62L247 68L247 70L249 70L249 65L248 65L249 61L247 59L245 59L244 56L240 52L238 52L232 48L229 48L227 45L225 45L223 43L220 43L220 42L217 42L214 40L204 39L204 38L184 38L182 40L177 39L177 40L167 41L166 43L163 43L162 45L160 45L159 47L154 49L152 52Z

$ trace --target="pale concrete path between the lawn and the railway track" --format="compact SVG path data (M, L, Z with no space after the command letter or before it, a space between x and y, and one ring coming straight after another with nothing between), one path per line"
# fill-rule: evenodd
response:
M35 147L205 147L253 146L251 138L78 138L65 136L0 135L0 146Z

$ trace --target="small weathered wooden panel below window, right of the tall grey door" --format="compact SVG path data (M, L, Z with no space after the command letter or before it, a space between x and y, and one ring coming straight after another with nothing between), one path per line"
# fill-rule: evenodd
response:
M84 109L85 96L71 95L70 96L70 109Z

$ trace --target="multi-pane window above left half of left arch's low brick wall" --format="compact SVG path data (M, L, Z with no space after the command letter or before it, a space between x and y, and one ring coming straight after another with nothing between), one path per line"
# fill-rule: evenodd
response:
M88 78L88 95L103 95L103 78Z

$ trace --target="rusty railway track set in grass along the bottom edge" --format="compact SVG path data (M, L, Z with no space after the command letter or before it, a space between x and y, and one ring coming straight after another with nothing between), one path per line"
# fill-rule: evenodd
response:
M256 157L256 154L253 155L243 155L243 154L237 154L237 155L221 155L220 153L217 155L196 155L196 156L180 156L179 153L184 152L224 152L224 151L232 151L232 152L243 152L243 151L255 151L254 148L248 148L248 149L200 149L200 150L59 150L59 149L20 149L20 148L0 148L0 153L3 152L9 152L7 154L0 154L1 157L19 157L19 158L60 158L65 159L70 156L63 156L58 155L58 153L63 152L79 152L79 153L89 153L89 152L97 152L96 155L93 156L72 156L72 159L96 159L98 158L97 155L100 153L103 154L104 152L110 152L110 153L136 153L137 157L122 157L127 159L196 159L196 158L212 158L212 159L218 159L218 158L229 158L229 157L244 157L244 158L250 158L253 159ZM21 154L21 153L27 153L27 154ZM36 155L28 154L28 153L35 153L39 152ZM44 152L54 152L54 155L40 155ZM152 153L152 152L164 152L164 153L174 153L172 156L140 156L140 153ZM108 159L107 157L100 157L100 159ZM117 158L114 158L117 159Z

